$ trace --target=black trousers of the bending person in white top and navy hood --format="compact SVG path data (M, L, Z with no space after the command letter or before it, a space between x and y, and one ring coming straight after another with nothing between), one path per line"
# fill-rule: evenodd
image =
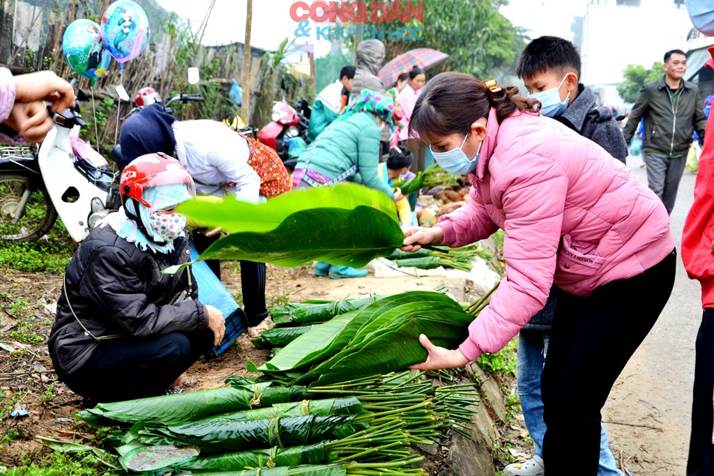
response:
M196 251L203 253L209 246L221 238L218 235L205 236L203 233L193 231L193 244ZM261 323L268 317L266 308L266 264L253 261L241 261L241 292L243 293L243 311L248 318L248 327ZM221 279L221 261L206 260L208 268Z

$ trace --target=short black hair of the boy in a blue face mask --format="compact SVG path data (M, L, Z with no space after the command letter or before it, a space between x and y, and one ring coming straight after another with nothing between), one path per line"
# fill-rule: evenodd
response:
M518 78L533 78L553 69L574 69L580 80L580 53L570 41L558 36L540 36L527 44L518 56Z

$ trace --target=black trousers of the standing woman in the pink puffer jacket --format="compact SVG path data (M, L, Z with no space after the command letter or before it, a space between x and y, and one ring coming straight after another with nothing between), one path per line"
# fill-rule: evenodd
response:
M598 474L600 410L662 312L674 285L676 250L632 278L587 298L558 293L541 377L543 460L548 474Z

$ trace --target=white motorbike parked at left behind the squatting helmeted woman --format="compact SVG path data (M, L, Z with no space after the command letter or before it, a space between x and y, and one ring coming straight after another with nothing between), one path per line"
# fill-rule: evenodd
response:
M78 101L86 100L78 91ZM171 104L177 101L203 98L178 94L166 101L166 111L172 112ZM69 235L81 241L121 206L120 172L111 170L99 153L76 153L72 146L73 130L86 127L79 106L54 113L52 120L54 126L39 146L0 147L0 240L38 240L59 216ZM121 171L119 146L111 159Z

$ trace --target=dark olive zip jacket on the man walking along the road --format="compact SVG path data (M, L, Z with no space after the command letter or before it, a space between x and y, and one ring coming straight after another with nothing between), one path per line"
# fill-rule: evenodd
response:
M632 113L623 130L625 141L630 143L637 130L640 118L645 118L645 156L681 157L689 150L692 131L704 137L707 118L699 88L694 83L682 80L676 109L672 106L665 77L645 84L632 108ZM676 113L675 113L676 112Z

